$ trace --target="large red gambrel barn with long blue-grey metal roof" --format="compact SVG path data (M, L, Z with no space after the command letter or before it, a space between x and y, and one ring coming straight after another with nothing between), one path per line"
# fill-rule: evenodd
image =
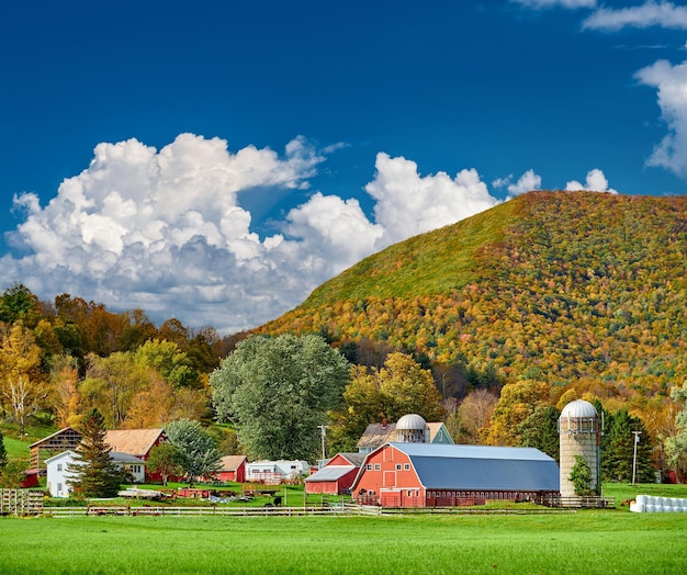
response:
M384 507L446 507L559 495L559 466L533 448L387 443L369 453L351 486Z

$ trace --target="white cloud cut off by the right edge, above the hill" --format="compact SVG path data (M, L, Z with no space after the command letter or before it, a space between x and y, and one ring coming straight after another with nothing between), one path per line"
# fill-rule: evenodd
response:
M637 78L658 90L658 106L668 127L646 164L687 179L687 60L676 66L658 60L638 71Z

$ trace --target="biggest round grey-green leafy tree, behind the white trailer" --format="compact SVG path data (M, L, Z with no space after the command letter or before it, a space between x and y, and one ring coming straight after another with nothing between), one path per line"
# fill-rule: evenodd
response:
M221 420L236 424L248 455L309 459L349 370L319 336L252 336L212 373L213 404Z

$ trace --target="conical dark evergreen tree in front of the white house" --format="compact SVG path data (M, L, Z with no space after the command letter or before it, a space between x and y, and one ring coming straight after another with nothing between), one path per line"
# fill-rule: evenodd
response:
M82 439L75 450L75 462L67 466L72 475L68 483L83 497L114 497L124 482L124 474L110 458L102 414L91 409L85 416L80 431Z

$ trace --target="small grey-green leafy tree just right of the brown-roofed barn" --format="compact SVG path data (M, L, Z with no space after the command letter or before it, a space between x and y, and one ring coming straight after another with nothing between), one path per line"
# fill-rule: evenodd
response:
M178 462L190 486L198 477L211 476L219 470L221 456L217 446L201 424L179 419L168 424L165 431L177 449Z

